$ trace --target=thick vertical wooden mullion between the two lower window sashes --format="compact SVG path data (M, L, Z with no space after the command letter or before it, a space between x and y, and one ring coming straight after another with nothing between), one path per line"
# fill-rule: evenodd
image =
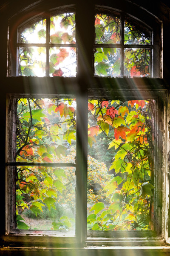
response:
M85 241L87 230L87 154L88 95L77 98L77 159L76 159L76 236L78 244Z

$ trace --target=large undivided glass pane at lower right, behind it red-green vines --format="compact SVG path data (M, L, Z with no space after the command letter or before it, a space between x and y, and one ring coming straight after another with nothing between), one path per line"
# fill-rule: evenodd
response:
M88 230L153 230L153 109L88 101Z

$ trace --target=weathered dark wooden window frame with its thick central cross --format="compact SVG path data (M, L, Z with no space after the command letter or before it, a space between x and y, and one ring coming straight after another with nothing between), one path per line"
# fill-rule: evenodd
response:
M69 6L68 6L69 7ZM72 6L71 6L72 7ZM161 138L164 138L164 141L168 140L168 130L167 123L168 118L170 116L167 110L167 89L162 83L161 79L145 79L145 78L100 78L96 77L94 79L94 17L95 17L95 7L93 3L91 3L91 8L89 6L83 6L82 9L80 3L77 4L76 8L76 41L77 41L77 63L78 63L78 72L77 77L74 78L62 78L62 77L47 77L47 78L38 78L38 77L8 77L8 90L7 93L9 95L17 94L17 95L25 95L29 93L31 96L35 94L41 93L42 95L48 96L49 91L53 95L64 94L70 95L74 94L77 98L77 224L76 224L76 237L54 237L50 236L51 243L55 246L61 246L61 244L67 244L75 246L83 246L85 244L95 245L95 244L145 244L146 241L148 244L153 245L161 245L163 244L162 235L168 240L170 234L167 233L166 223L168 221L167 217L167 193L169 192L168 184L168 161L166 157L166 152L169 150L168 147L163 147ZM98 6L97 6L98 7ZM99 6L101 8L101 6ZM112 8L111 8L112 9ZM79 11L78 11L79 10ZM117 10L117 9L116 9ZM39 6L39 12L42 11L41 6ZM88 12L88 20L83 23L83 15L85 12ZM29 17L34 16L34 9L26 10L23 12L23 21L24 15L29 13ZM41 12L40 12L41 13ZM129 12L130 13L130 9ZM132 15L130 13L130 15ZM140 15L139 15L140 16ZM139 17L140 18L140 17ZM145 20L149 20L145 17ZM9 50L8 50L8 73L11 76L16 76L16 58L17 53L12 52L12 49L17 49L17 26L18 16L13 17L10 21L9 26ZM153 18L151 20L150 26L154 23ZM153 57L152 61L155 63L155 68L153 68L153 77L161 77L161 25L156 26L159 22L154 23L154 31L153 33L153 42L155 42L152 46L153 48ZM81 31L86 31L86 26L88 26L88 34L85 32L81 34ZM81 35L81 37L80 37ZM88 35L88 37L87 37ZM74 45L75 46L75 45ZM14 54L13 54L14 53ZM11 56L13 55L13 57ZM82 59L84 61L82 61ZM158 61L159 59L159 61ZM17 84L17 87L12 87L12 82ZM159 189L162 186L162 181L166 181L166 189L156 195L156 205L155 205L155 227L156 227L156 236L151 238L150 235L144 238L143 234L138 234L138 238L136 238L137 233L131 233L130 236L127 236L127 232L117 232L116 238L91 238L90 240L86 238L86 187L87 187L87 138L88 135L88 96L89 97L103 97L105 99L156 99L157 108L156 108L156 132L159 135L157 138L158 148L161 150L156 151L156 154L161 154L162 159L156 157L156 177L155 184L156 189ZM164 102L162 102L164 99ZM9 120L11 113L9 111L10 101L7 101L7 125L9 125ZM8 140L7 140L8 141ZM159 160L158 160L159 159ZM8 165L8 164L7 164ZM166 168L164 169L164 167ZM163 172L163 174L162 174ZM9 212L9 204L10 204L10 195L8 193L9 189L11 189L10 178L9 178L8 170L6 167L6 222L8 223ZM81 206L81 207L79 207ZM162 208L163 207L163 208ZM162 211L162 215L161 215ZM161 218L163 221L161 221ZM82 223L84 225L82 226ZM170 224L169 224L170 225ZM82 226L82 228L80 228ZM8 224L7 224L8 227ZM115 233L116 234L116 233ZM19 235L19 234L11 234L8 230L6 235L3 236L3 239L6 242L13 241L14 243L31 243L35 236ZM48 238L43 236L36 236L37 241L34 241L34 244L43 244L48 241ZM141 239L141 240L140 240ZM140 241L139 241L140 240Z

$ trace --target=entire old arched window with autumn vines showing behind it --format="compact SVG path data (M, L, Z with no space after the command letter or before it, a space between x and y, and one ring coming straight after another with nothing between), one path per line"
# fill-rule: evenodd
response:
M119 80L159 77L160 51L155 27L131 16L96 7L85 25L71 7L17 27L11 76L31 83L28 93L8 94L8 235L83 243L161 233L156 148L164 93Z

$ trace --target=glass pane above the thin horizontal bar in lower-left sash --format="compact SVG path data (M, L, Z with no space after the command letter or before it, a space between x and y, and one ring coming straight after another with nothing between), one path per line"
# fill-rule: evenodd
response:
M17 99L14 161L75 163L75 99Z

